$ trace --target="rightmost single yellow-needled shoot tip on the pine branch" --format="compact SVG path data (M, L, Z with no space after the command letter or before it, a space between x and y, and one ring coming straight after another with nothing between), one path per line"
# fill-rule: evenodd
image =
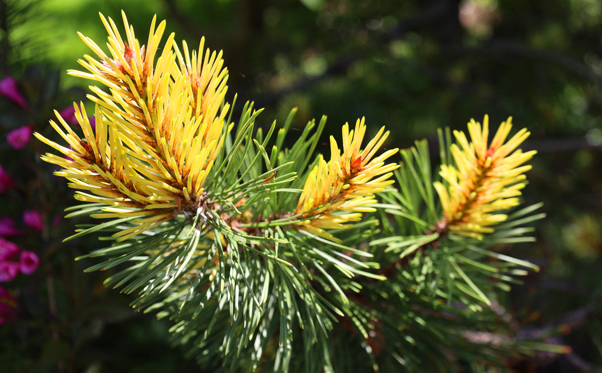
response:
M453 144L450 152L455 166L442 165L439 174L446 184L434 183L444 212L438 229L482 239L483 233L494 232L493 226L507 219L498 212L518 205L524 172L531 168L521 165L536 152L515 150L529 136L526 129L504 143L511 128L512 117L500 125L489 146L488 116L482 126L474 119L468 123L470 143L463 132L454 131L458 145Z

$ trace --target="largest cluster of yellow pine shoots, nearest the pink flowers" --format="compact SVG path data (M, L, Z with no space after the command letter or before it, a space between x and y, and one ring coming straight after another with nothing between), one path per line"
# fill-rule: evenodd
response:
M94 95L88 98L96 104L96 129L79 104L75 116L83 136L58 113L58 121L51 126L65 143L39 133L35 136L73 159L42 155L43 160L63 168L57 175L68 178L70 187L81 190L76 199L133 209L95 216L138 216L140 212L149 216L116 234L123 240L182 210L196 214L205 193L203 184L232 129L232 124L226 124L229 105L224 102L228 71L223 67L222 52L203 51L204 39L198 52L189 52L183 43L182 54L173 33L161 45L166 22L157 25L156 17L144 46L125 13L125 40L111 18L100 16L108 33L108 53L79 34L96 57L85 55L79 60L86 72L69 71L106 87L90 87Z

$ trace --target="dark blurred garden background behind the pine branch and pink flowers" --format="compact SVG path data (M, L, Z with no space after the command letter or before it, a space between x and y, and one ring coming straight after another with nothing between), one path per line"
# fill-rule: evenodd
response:
M37 160L45 146L32 140L26 160L36 171L23 171L23 151L7 146L4 138L29 122L47 131L52 108L83 99L88 82L65 74L90 53L76 31L104 46L107 36L98 12L120 25L123 9L145 43L156 13L167 20L166 34L175 32L176 40L187 40L190 48L205 36L207 48L223 49L230 74L228 101L238 93L235 112L247 100L264 107L258 125L274 119L282 123L292 107L299 107L296 127L325 114L326 144L327 134L338 135L344 122L365 116L370 131L382 125L391 131L386 146L400 148L423 138L435 146L437 128L464 129L471 118L482 121L484 114L492 131L508 116L517 130L529 128L523 149L536 149L538 155L524 199L545 202L547 218L536 226L536 243L501 250L535 262L541 271L503 295L503 306L524 323L524 333L562 330L545 340L571 346L573 353L537 354L513 362L513 369L595 372L602 367L600 0L0 4L0 77L18 80L31 102L22 115L15 114L11 102L0 103L0 163L18 184L0 195L11 201L0 206L1 216L20 219L22 204L33 204L51 227L52 216L72 201L72 192L46 175L53 170ZM433 153L433 163L437 157ZM33 181L40 178L45 182ZM19 318L0 326L0 360L14 361L15 371L196 371L181 351L169 349L169 322L132 313L127 296L102 288L104 275L82 274L86 263L70 261L98 245L92 239L86 247L81 241L60 243L71 227L66 221L40 237L15 239L39 246L42 263L31 277L3 285L20 299L43 301L24 304ZM52 309L57 292L64 304ZM40 318L46 321L32 325ZM15 345L15 340L22 343Z

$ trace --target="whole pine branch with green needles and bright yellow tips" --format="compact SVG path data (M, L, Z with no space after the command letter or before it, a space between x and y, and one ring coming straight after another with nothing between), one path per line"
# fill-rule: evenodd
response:
M526 130L504 143L508 121L489 147L486 121L469 124L471 143L441 133L441 180L424 141L401 152L402 165L386 163L397 149L377 154L384 128L364 145L364 119L343 126L341 147L330 138L326 161L314 154L325 117L283 149L295 110L264 134L254 132L261 109L247 102L232 133L227 70L203 40L198 54L186 43L180 51L173 34L160 47L165 24L154 19L145 47L125 14L125 40L101 19L110 55L81 36L99 60L70 72L108 89L91 88L96 127L83 104L81 133L57 113L65 145L36 136L62 156L42 158L86 202L67 216L108 219L68 238L100 234L107 244L78 258L102 258L86 271L117 269L105 284L172 319L173 342L200 365L503 369L501 359L545 347L518 343L489 307L524 268L537 270L493 250L529 242L528 225L542 218L540 205L507 211L530 167L521 165L533 152L514 151Z

